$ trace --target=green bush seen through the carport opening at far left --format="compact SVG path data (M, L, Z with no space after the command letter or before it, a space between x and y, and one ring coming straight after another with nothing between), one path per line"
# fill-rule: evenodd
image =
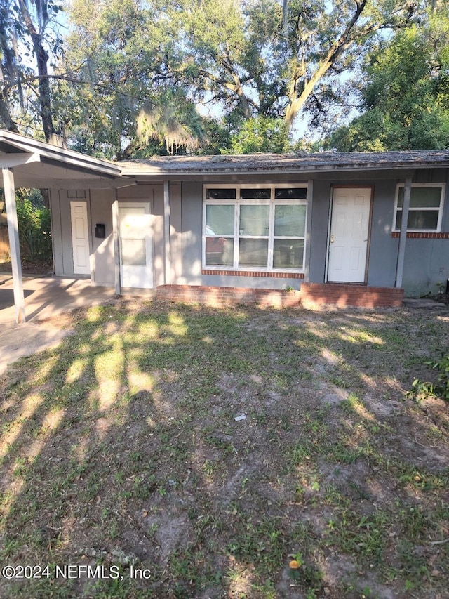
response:
M17 197L20 251L31 261L48 261L52 258L50 210L36 207L34 196Z

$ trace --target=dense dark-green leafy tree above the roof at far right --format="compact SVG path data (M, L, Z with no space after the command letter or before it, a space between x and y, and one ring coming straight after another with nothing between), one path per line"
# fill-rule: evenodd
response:
M340 127L328 147L428 150L449 147L449 19L434 11L382 42L368 56L361 90L363 114Z

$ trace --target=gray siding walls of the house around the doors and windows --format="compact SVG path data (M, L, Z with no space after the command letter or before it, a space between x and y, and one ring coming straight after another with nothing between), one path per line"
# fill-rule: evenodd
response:
M409 173L411 171L408 171ZM401 173L402 174L402 173ZM309 282L326 282L328 228L333 187L372 187L373 201L370 219L370 246L368 252L367 284L374 287L394 287L398 237L392 235L394 198L397 183L403 183L406 173L397 171L361 173L354 176L342 173L320 173L313 180L313 197L309 198L311 222L309 239ZM232 177L232 183L307 183L299 176ZM219 181L216 179L216 182ZM220 183L226 179L220 178ZM73 275L72 231L70 223L71 199L86 199L88 204L89 235L91 244L91 279L93 284L114 284L114 243L112 234L112 203L149 202L152 214L152 256L154 287L165 283L222 287L256 287L299 289L302 279L275 277L248 277L236 275L208 275L202 270L203 183L207 180L170 183L170 269L166 272L164 251L163 183L134 185L115 190L87 190L84 192L51 192L53 223L53 251L55 274ZM416 171L413 183L448 183L448 172L424 169ZM75 198L73 197L75 195ZM78 196L79 197L76 197ZM449 231L449 185L441 230ZM84 196L84 197L81 197ZM95 225L105 224L106 239L95 238ZM418 296L437 291L449 277L449 239L414 239L406 241L406 259L403 287L406 296Z

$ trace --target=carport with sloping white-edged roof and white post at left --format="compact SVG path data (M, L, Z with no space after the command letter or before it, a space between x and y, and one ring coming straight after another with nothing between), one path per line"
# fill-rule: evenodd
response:
M13 272L15 322L25 322L25 294L20 263L15 189L117 189L133 185L121 176L121 167L107 160L0 131L0 166L3 176L8 237Z

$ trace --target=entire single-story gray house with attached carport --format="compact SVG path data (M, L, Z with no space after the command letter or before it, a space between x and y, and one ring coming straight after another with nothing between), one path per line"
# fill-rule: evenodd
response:
M109 162L0 131L0 164L12 254L14 188L48 188L55 275L118 293L397 305L449 277L447 150Z

